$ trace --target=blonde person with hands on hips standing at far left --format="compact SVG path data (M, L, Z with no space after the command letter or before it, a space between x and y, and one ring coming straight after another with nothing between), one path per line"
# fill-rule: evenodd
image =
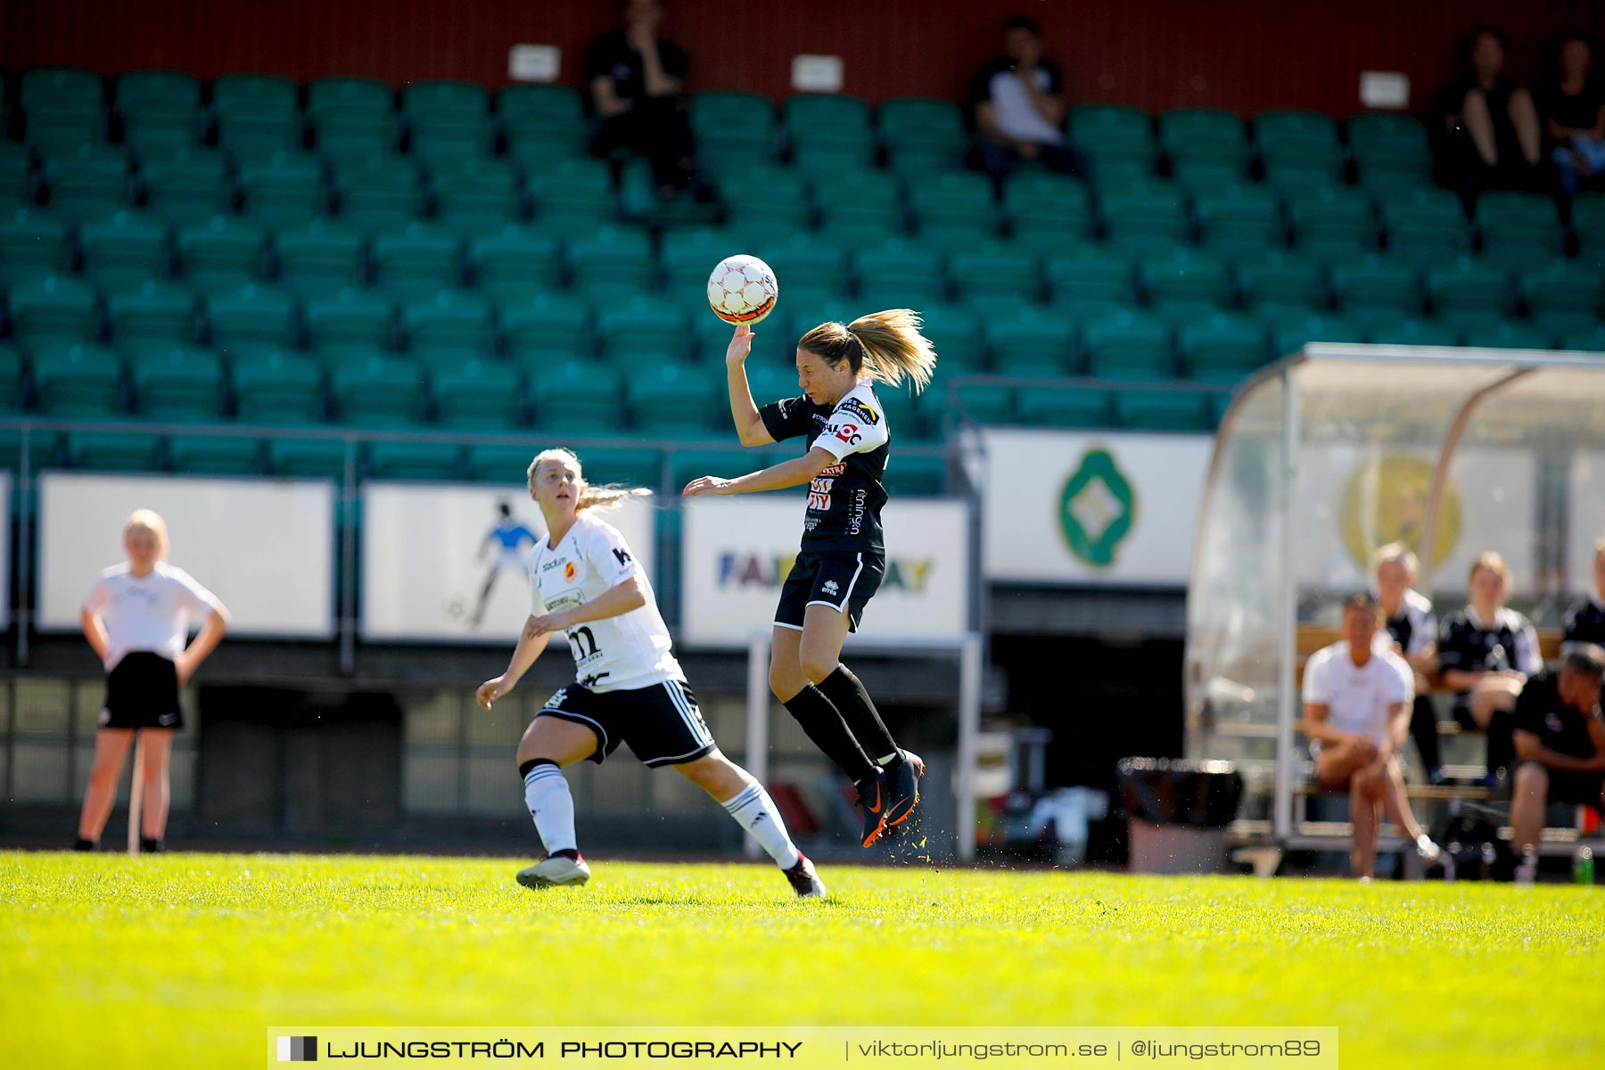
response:
M135 733L144 741L141 850L162 849L167 831L167 757L183 727L178 690L223 638L228 610L167 557L167 523L148 509L122 529L128 560L101 573L83 600L83 637L106 666L106 703L95 733L95 765L79 817L79 850L95 850L117 797L122 762ZM201 634L189 637L189 618Z

